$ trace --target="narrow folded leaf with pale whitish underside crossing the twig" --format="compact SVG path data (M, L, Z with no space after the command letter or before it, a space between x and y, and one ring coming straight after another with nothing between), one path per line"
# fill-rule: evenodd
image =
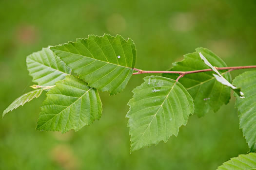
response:
M232 88L232 89L236 92L236 94L237 94L238 96L240 96L240 98L244 98L244 97L243 97L243 92L241 92L241 89L240 89L240 88L237 88L236 86L234 86L234 85L232 85L231 83L229 83L229 82L218 72L218 70L217 70L214 66L212 66L211 63L209 63L209 61L203 56L203 54L202 54L201 52L199 52L199 56L201 57L201 59L204 61L204 63L205 63L207 66L209 66L210 68L212 68L212 70L217 73L217 75L216 75L216 74L213 74L213 75L214 75L214 77L217 79L217 81L218 81L219 83L221 83L222 85L229 86L230 88Z

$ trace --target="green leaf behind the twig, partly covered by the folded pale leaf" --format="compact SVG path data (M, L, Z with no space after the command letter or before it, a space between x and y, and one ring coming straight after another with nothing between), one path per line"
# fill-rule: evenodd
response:
M184 60L173 63L172 71L192 71L207 69L208 66L199 56L201 52L204 57L216 67L227 67L227 65L212 51L204 48L197 48L196 52L184 55ZM220 74L231 81L228 71L220 70ZM164 77L177 79L177 74L163 74ZM210 110L217 112L222 104L227 104L230 99L230 88L219 83L211 71L195 74L187 74L179 79L179 82L188 90L194 99L195 114L198 117L204 116Z

